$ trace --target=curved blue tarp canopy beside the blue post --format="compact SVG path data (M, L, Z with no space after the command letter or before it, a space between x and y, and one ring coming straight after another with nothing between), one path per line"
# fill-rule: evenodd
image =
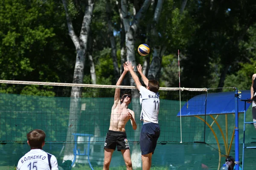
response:
M250 99L250 90L241 91L241 99ZM238 99L239 113L244 113L244 102ZM246 103L245 111L250 103ZM206 109L206 111L205 111ZM235 92L201 94L189 99L181 108L181 116L200 116L235 113ZM180 112L177 114L180 116Z

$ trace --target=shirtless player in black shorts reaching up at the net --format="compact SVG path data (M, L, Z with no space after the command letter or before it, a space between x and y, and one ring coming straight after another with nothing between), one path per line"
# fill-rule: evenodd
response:
M128 73L128 69L124 67L124 72L116 82L116 85L121 85L126 73ZM129 120L134 130L137 129L137 125L134 119L134 111L128 108L130 102L131 95L124 94L120 99L120 88L116 88L114 104L111 109L110 126L104 145L103 170L109 170L112 154L116 148L122 153L126 169L132 170L130 146L125 132L125 125Z

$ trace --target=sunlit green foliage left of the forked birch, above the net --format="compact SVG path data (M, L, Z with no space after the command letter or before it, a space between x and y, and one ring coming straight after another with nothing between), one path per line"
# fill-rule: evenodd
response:
M64 44L58 30L63 28L65 17L58 6L58 3L41 0L1 3L1 79L64 82L60 74L62 68L69 70L74 65L66 67L73 62L67 62L68 56L61 54L64 51L59 52Z

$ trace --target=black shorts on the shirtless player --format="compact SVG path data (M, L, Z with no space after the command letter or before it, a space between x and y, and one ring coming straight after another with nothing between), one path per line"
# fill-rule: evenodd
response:
M104 149L107 148L116 150L116 147L118 151L130 149L126 133L108 130L105 139Z

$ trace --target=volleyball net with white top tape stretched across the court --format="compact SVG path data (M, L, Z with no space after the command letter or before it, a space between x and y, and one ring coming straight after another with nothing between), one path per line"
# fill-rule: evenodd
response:
M92 142L104 142L117 87L121 88L121 95L133 94L128 108L134 111L139 128L134 131L128 122L126 133L129 141L139 141L141 107L136 96L140 95L132 86L6 80L0 83L1 142L26 142L26 134L35 128L45 131L47 142L73 142L73 133L91 134ZM70 97L72 87L79 87L82 94L75 105L74 97ZM181 88L180 96L179 88L160 88L159 142L204 141L204 122L193 117L181 118L177 113L193 96L206 93L205 88ZM197 104L204 105L205 99ZM68 133L70 129L72 132Z

